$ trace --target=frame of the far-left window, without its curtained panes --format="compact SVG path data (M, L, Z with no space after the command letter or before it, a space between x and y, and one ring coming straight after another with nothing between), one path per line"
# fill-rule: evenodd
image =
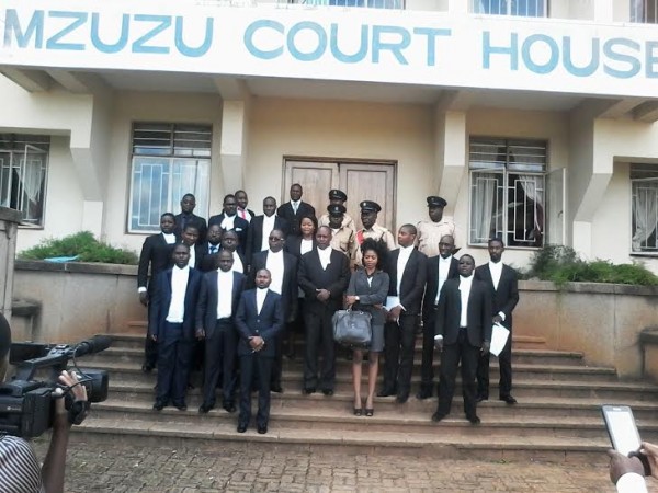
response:
M18 210L21 214L21 223L19 225L20 228L25 228L25 229L44 229L45 222L46 222L46 199L47 199L47 192L48 192L48 177L49 177L49 163L50 163L50 136L49 135L41 135L41 134L18 134L18 133L2 133L0 134L0 153L2 154L8 154L10 162L8 167L1 165L0 167L0 205L3 205L3 207L9 207L9 208L13 208L14 210ZM41 210L39 210L39 217L38 218L30 218L27 219L26 213L24 210L25 207L25 193L21 194L20 197L15 197L15 200L20 202L20 207L14 208L14 207L10 207L11 203L12 203L12 198L11 198L11 188L13 187L12 183L13 183L13 170L18 169L19 174L21 177L19 177L19 185L21 187L22 191L24 191L25 188L25 183L22 181L25 179L25 174L26 174L26 167L25 163L27 161L27 156L29 153L37 153L41 154L43 157L43 159L39 159L39 176L41 176L41 184L39 184L39 191L37 192L38 195L41 195ZM18 165L14 164L14 160L18 160ZM8 172L8 176L9 176L9 182L7 184L7 187L4 186L4 184L2 183L2 171L4 169L9 169ZM22 180L21 180L22 179ZM2 194L3 194L3 188L7 188L9 191L9 197L8 197L8 202L7 204L4 204L4 200L2 199ZM29 200L29 198L27 198Z

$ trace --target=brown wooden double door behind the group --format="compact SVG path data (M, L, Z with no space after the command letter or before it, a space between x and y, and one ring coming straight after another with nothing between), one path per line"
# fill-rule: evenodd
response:
M395 231L395 163L285 159L285 179L282 203L290 199L288 191L293 183L304 188L302 199L316 208L318 217L327 211L331 188L340 188L348 194L348 214L361 228L361 200L374 200L382 206L377 222Z

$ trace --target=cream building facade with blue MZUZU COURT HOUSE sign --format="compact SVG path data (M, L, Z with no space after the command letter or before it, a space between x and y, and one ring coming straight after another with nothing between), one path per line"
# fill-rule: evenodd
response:
M19 250L138 250L188 192L339 187L392 229L441 195L478 262L501 236L658 272L656 3L5 0L1 205Z

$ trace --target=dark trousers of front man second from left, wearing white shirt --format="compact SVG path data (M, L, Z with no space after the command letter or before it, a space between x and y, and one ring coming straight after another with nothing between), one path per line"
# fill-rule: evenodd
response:
M218 319L215 332L205 342L205 362L203 377L203 402L215 404L215 388L222 378L224 403L234 401L236 389L236 351L238 334L231 319Z

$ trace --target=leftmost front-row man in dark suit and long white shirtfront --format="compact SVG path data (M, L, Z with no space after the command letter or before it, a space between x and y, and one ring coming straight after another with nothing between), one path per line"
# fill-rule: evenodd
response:
M194 320L202 274L192 268L190 246L173 248L174 266L158 274L151 300L149 335L158 344L158 387L154 409L161 411L171 401L188 409L185 393L194 347Z

